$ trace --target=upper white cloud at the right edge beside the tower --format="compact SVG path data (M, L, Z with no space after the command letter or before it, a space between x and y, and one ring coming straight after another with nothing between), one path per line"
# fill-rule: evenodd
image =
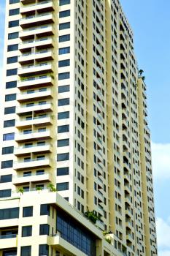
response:
M152 170L153 178L170 179L170 144L152 143Z

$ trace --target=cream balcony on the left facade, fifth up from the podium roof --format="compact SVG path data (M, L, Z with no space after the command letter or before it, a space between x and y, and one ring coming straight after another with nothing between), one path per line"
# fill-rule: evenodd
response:
M50 115L43 115L43 116L35 116L32 118L29 118L28 120L20 118L16 120L15 126L17 128L24 128L24 127L30 127L32 125L38 127L39 125L50 125L53 124L53 118Z

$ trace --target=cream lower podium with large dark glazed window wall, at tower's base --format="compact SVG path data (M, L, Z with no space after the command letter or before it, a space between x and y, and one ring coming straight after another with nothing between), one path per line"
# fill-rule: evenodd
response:
M24 192L0 201L0 256L130 253L117 236L102 233L58 192Z

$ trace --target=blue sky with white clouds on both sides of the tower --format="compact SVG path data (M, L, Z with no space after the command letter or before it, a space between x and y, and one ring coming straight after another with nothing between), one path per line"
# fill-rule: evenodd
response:
M170 1L120 2L134 30L136 57L146 77L159 255L170 256ZM0 1L0 56L4 3L5 0Z

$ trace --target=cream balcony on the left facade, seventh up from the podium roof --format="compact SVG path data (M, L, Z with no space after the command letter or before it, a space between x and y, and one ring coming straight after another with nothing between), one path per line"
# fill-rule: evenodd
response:
M17 94L18 102L28 102L39 99L52 99L53 90L51 88L48 89L39 89L39 90L31 90L22 92L21 94ZM43 108L43 107L42 107Z

